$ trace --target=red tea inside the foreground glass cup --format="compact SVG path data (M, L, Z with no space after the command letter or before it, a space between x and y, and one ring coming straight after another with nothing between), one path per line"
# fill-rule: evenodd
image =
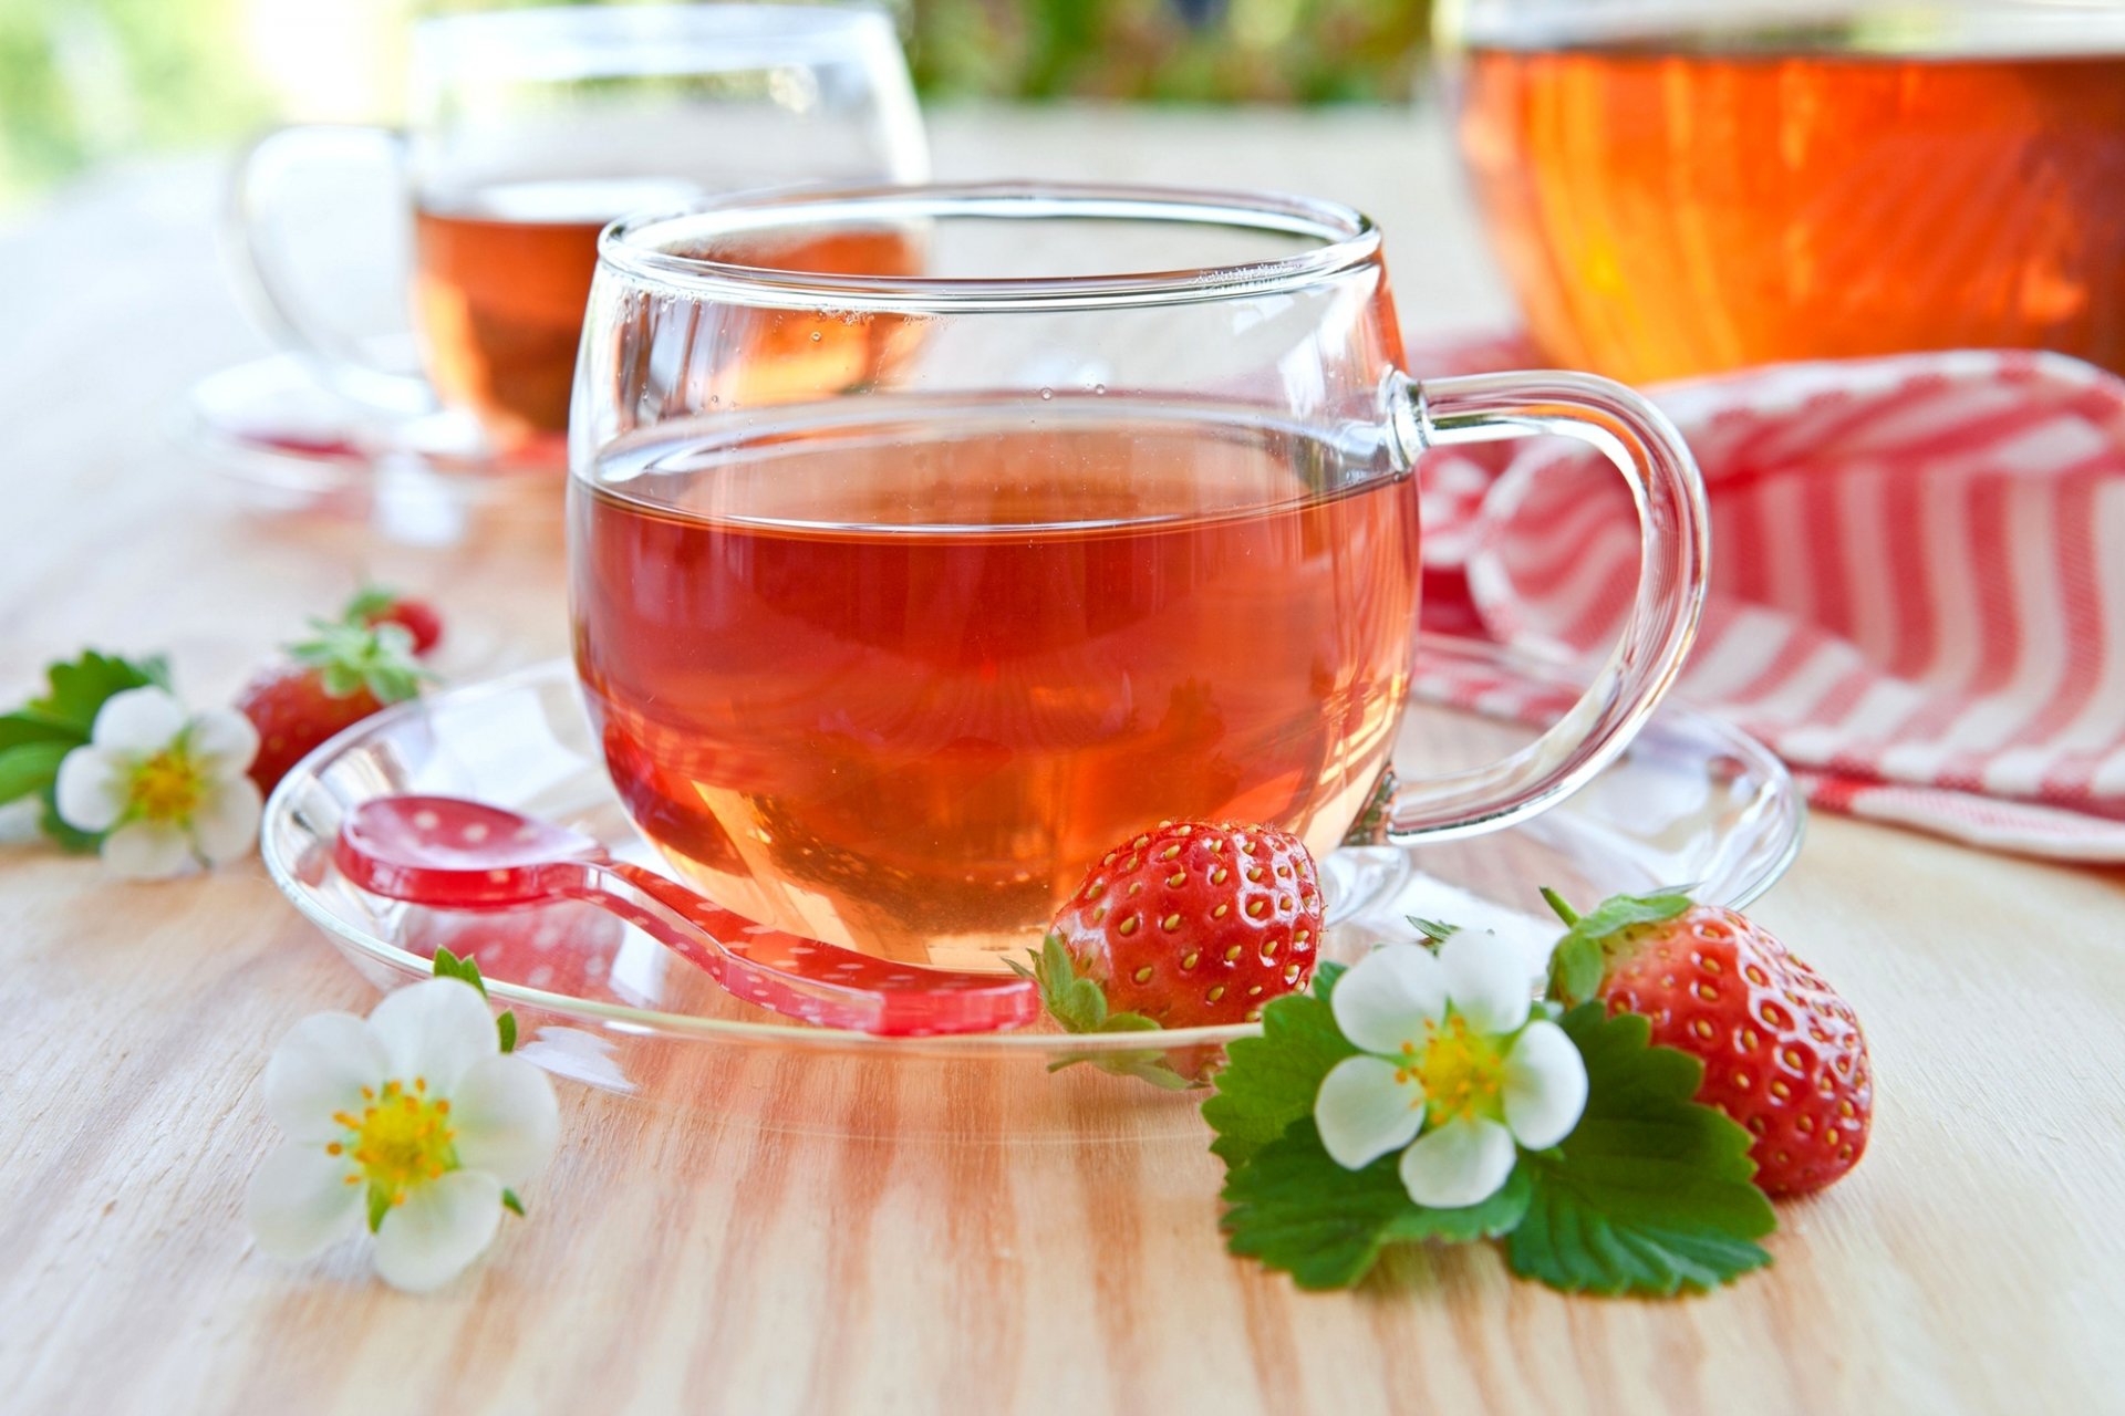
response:
M578 484L591 715L703 892L965 962L1158 819L1328 849L1362 809L1407 692L1407 478L1266 422L1050 408L737 456L667 425Z

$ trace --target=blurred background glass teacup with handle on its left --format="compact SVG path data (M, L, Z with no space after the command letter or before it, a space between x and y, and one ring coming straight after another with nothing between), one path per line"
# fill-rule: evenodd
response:
M334 323L372 251L329 251L317 185L397 174L419 374ZM920 180L922 121L876 8L561 6L412 30L408 125L308 125L242 159L255 306L342 393L444 408L480 448L559 463L597 231L629 210L803 183ZM805 253L795 253L799 261ZM829 257L831 259L831 257Z

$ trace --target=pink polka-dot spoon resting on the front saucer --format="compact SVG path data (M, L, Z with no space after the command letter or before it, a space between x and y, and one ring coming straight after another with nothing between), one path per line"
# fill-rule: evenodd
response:
M752 923L574 830L455 796L376 796L340 822L348 881L434 909L586 900L699 964L746 1002L827 1028L916 1038L1033 1021L1024 979L873 960Z

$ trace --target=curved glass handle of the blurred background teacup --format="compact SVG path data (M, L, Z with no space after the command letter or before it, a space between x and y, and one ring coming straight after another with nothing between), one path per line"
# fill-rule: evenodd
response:
M225 225L238 284L253 316L280 346L308 355L321 378L346 397L419 414L436 408L427 380L378 365L357 338L310 310L295 293L291 255L272 231L272 214L289 172L319 159L378 157L393 170L404 170L406 134L363 123L276 127L236 159Z

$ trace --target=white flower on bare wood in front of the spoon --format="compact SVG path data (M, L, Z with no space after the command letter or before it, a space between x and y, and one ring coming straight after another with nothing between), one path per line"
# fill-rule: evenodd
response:
M495 1238L504 1206L561 1134L552 1083L502 1051L480 991L425 979L368 1019L314 1013L266 1064L266 1112L287 1142L251 1176L259 1250L308 1259L376 1231L376 1272L436 1289Z

